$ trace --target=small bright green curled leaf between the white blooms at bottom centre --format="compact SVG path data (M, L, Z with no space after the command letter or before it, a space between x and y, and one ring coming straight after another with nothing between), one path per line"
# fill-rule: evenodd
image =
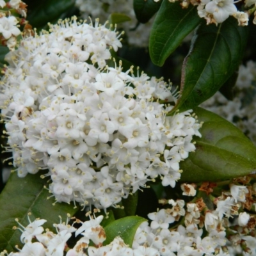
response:
M107 236L104 245L111 243L116 236L120 236L125 244L132 247L136 230L144 221L147 220L138 216L129 216L113 221L104 228Z

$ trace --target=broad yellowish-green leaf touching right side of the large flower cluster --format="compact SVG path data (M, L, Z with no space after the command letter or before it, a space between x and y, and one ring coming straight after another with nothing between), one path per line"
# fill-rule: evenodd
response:
M236 126L202 108L194 109L202 138L195 152L180 162L182 182L227 180L256 170L256 147Z

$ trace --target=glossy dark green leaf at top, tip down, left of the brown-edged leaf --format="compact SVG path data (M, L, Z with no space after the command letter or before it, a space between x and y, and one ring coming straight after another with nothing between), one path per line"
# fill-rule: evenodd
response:
M168 56L200 21L202 19L197 14L196 6L182 9L179 2L164 0L150 33L149 53L152 62L163 66Z

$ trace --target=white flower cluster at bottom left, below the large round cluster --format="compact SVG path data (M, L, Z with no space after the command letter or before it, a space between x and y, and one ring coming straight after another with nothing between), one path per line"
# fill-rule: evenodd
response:
M102 243L106 240L106 234L104 228L100 226L100 222L103 216L97 218L90 217L89 221L76 220L74 223L81 223L81 227L75 228L73 225L68 225L70 218L67 218L66 223L54 224L56 228L56 233L44 228L42 225L47 220L36 219L35 221L30 220L27 227L23 227L19 220L16 220L21 228L22 232L20 236L20 241L24 244L20 252L6 251L1 252L1 256L97 256L97 255L128 255L136 256L136 251L133 251L129 246L127 246L123 239L116 237L107 246L102 246ZM17 227L14 227L17 228ZM82 237L77 241L74 248L70 248L67 253L67 241L72 236L81 235ZM36 241L35 241L36 239ZM89 246L93 244L94 246ZM65 253L65 254L64 254Z

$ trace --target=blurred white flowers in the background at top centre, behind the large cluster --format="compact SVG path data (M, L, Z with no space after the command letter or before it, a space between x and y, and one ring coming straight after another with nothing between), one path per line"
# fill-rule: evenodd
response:
M148 38L153 19L146 24L137 24L138 20L133 10L133 0L76 0L76 6L81 12L83 19L99 17L100 20L107 20L111 13L122 13L131 20L118 26L125 31L130 45L148 47ZM137 26L138 25L138 26Z

